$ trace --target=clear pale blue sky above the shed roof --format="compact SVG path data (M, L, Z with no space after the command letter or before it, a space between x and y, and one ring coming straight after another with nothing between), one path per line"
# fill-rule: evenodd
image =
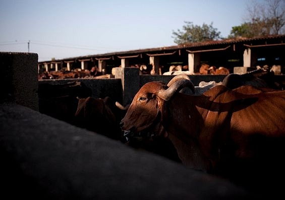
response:
M262 0L259 0L262 1ZM0 52L38 61L176 45L185 21L227 37L244 23L249 1L0 0Z

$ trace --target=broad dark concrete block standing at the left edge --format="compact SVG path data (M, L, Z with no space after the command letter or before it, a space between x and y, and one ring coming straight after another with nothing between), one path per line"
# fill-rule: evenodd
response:
M38 111L38 55L0 53L0 102L13 102Z

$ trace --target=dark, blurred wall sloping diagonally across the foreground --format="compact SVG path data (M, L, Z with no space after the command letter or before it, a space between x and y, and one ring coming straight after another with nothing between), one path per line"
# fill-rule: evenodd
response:
M186 169L17 104L0 104L2 196L27 199L252 199Z

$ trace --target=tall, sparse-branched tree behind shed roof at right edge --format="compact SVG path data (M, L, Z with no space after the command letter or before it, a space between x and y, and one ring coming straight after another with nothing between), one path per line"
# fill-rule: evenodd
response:
M255 1L247 5L247 19L232 27L229 38L278 35L285 33L285 0Z

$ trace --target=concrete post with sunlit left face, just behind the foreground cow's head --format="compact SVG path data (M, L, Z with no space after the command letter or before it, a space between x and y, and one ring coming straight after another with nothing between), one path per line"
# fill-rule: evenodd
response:
M115 68L115 78L121 78L123 87L123 105L132 103L135 94L140 89L140 71L138 68Z

